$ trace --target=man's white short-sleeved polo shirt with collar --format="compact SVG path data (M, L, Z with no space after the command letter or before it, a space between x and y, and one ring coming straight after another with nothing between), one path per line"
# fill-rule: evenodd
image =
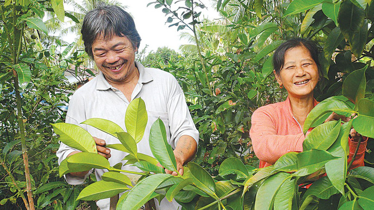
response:
M139 70L139 80L131 95L131 100L141 97L146 103L148 123L142 140L138 143L138 152L153 157L149 146L149 134L153 122L160 118L165 124L169 144L175 149L179 138L182 135L193 137L199 141L199 132L191 118L190 111L185 102L184 94L175 77L159 69L144 68L135 61ZM90 125L79 124L90 118L103 118L117 123L124 131L124 116L129 105L128 99L121 91L112 87L100 72L91 81L79 88L69 102L69 109L66 117L67 123L80 125L93 137L104 139L107 144L120 143L113 136L99 131ZM76 151L66 144L60 144L56 155L58 163L63 161L71 152ZM122 161L127 153L111 149L109 162L114 166ZM136 167L125 165L123 170L138 171ZM107 170L95 169L97 180ZM86 175L85 178L87 178ZM81 184L85 178L66 175L69 184Z

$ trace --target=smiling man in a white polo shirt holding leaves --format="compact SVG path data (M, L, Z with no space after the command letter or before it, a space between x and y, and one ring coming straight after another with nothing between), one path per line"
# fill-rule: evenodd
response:
M105 145L120 143L119 140L79 123L90 118L103 118L126 130L126 109L133 99L141 97L146 103L148 123L144 136L138 143L138 152L153 156L148 138L152 123L160 118L165 124L168 142L174 149L178 171L182 174L183 164L190 161L196 153L199 133L177 80L167 72L144 68L135 61L135 53L141 39L132 17L117 6L99 6L87 13L81 33L85 50L95 61L100 73L74 93L69 103L66 122L85 128L94 137L98 153L109 158L111 165L114 165L127 154L111 151L105 148ZM61 143L57 151L59 163L78 152L80 151ZM136 169L129 165L122 168ZM165 171L172 174L171 171ZM106 170L95 170L97 180L101 180L101 175L105 172ZM70 184L81 184L89 174L67 174L66 180ZM173 175L176 173L173 172ZM99 201L98 206L108 209L109 199ZM177 204L163 200L158 208L177 209Z

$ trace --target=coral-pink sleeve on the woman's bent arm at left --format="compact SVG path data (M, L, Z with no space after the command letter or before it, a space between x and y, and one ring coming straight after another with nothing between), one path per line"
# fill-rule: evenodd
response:
M302 152L303 133L297 135L277 135L272 116L263 109L252 115L250 137L256 156L269 164L274 164L288 152Z

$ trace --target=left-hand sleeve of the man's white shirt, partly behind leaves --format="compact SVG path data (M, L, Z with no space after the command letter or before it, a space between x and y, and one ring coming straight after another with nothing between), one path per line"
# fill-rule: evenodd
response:
M80 97L77 94L74 94L71 100L69 101L69 108L68 113L66 116L66 123L76 124L80 127L83 127L87 130L87 126L83 124L79 124L79 122L86 120L86 114L85 114L85 102L84 98ZM70 146L66 145L63 142L60 142L60 147L58 148L56 152L56 156L58 157L58 164L60 164L65 158L68 157L68 155L72 152L78 151L74 148L71 148ZM85 177L77 177L72 176L70 174L65 175L65 179L69 184L77 185L81 184L85 181L85 179L92 173L93 170L90 170L88 174L86 174Z

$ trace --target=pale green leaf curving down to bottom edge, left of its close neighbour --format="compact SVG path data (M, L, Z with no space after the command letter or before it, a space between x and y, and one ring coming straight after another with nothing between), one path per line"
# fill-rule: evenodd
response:
M280 172L265 179L257 191L255 209L273 209L276 193L282 184L291 178L290 174Z

